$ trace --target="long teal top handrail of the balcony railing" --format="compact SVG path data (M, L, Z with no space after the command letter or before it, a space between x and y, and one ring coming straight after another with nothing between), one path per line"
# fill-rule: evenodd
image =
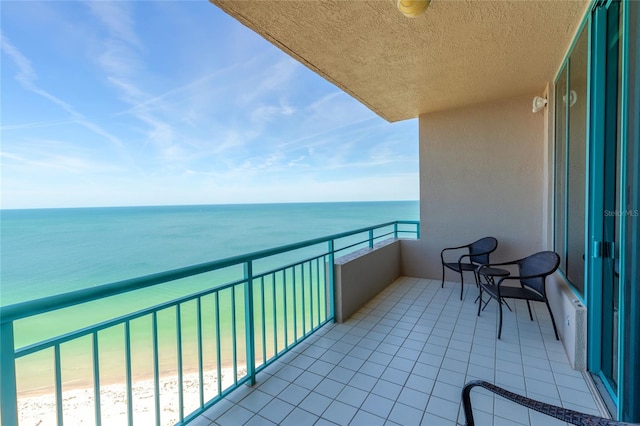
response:
M314 246L316 244L322 244L331 240L337 240L340 238L349 237L351 235L367 232L373 229L384 228L394 224L411 224L418 225L419 221L412 220L396 220L392 222L386 222L379 225L368 226L365 228L359 228L351 231L346 231L338 234L333 234L325 237L314 238L306 241L300 241L297 243L286 244L270 249L264 249L255 251L248 254L227 257L220 260L214 260L211 262L200 263L197 265L187 266L178 269L172 269L165 272L159 272L156 274L145 275L142 277L131 278L123 281L117 281L109 284L102 284L91 288L76 290L63 294L56 294L49 297L44 297L35 300L29 300L26 302L16 303L13 305L7 305L0 307L0 323L15 321L21 318L29 317L32 315L43 314L46 312L55 311L58 309L68 308L70 306L79 305L86 302L91 302L104 297L116 296L118 294L127 293L134 290L140 290L146 287L150 287L156 284L162 284L170 281L175 281L181 278L186 278L194 275L203 274L206 272L215 271L218 269L227 268L258 259L263 259L270 256L286 253L293 250L298 250L304 247Z

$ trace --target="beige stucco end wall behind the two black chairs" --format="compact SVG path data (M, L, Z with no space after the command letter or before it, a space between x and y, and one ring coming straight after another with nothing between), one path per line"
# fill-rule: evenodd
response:
M535 95L420 116L421 239L403 246L404 275L440 279L442 248L486 235L499 241L496 261L544 248L547 152Z

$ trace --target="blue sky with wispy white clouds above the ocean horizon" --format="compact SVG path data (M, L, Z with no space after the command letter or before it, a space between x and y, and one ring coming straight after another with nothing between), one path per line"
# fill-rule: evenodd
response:
M387 123L208 1L2 1L2 208L418 199Z

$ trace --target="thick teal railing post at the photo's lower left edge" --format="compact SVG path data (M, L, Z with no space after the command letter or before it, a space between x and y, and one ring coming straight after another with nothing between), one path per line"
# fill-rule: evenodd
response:
M0 386L0 409L3 425L18 424L18 393L16 386L16 358L13 340L13 321L0 325L0 354L2 386Z

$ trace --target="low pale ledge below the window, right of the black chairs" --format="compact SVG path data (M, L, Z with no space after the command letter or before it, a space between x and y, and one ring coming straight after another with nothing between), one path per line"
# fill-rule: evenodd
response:
M547 297L571 367L586 371L587 308L558 273L548 278Z

